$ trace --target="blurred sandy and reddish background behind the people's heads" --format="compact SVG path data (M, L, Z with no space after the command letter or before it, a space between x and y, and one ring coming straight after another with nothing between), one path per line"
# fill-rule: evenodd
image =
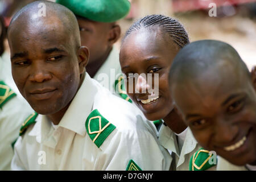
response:
M33 0L0 0L0 15L8 26L11 16ZM52 0L54 2L54 0ZM129 0L130 13L119 21L122 36L131 23L149 14L178 19L191 42L216 39L231 44L251 69L256 65L256 0ZM210 16L216 5L216 16ZM120 46L121 39L117 43Z

